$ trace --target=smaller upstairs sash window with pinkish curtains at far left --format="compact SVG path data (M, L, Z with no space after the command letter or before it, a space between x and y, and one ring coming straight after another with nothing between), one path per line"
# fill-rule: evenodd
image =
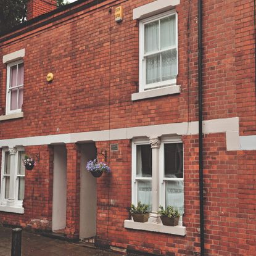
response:
M23 60L7 64L6 114L22 111L23 80Z

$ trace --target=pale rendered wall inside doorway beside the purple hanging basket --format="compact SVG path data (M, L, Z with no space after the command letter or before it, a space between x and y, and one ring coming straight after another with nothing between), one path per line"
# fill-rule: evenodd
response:
M81 146L80 239L96 236L97 182L86 171L88 160L96 158L94 143Z

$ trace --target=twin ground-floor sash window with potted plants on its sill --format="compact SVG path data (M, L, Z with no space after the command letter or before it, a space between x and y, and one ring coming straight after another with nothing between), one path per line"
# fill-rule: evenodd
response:
M183 142L180 138L134 139L132 202L171 205L184 213ZM152 191L156 194L155 200ZM154 196L155 197L155 196Z

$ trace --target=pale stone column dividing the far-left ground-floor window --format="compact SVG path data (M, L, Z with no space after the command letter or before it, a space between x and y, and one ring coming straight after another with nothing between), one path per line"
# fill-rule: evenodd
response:
M14 148L9 148L9 154L10 154L10 177L15 176L15 154L17 150ZM10 191L9 191L9 198L7 199L7 205L13 206L15 203L15 179L10 178Z

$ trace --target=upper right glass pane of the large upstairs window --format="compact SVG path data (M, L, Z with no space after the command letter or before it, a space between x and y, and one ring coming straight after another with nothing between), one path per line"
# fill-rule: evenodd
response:
M160 20L160 46L165 49L176 45L175 15Z

